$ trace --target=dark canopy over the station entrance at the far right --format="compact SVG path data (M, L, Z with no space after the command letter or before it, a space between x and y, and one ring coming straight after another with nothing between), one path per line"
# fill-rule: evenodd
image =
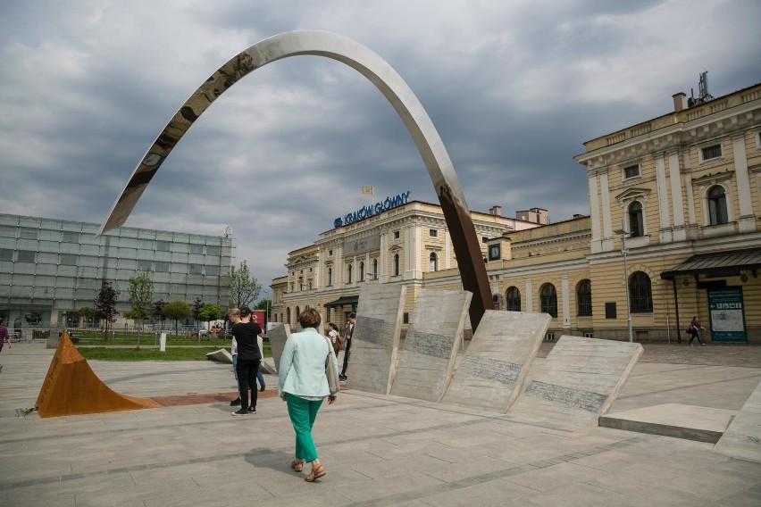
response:
M757 270L761 270L761 249L753 248L693 255L679 266L662 272L661 278L672 280L698 275L732 277L742 274L741 271L750 271L755 277Z

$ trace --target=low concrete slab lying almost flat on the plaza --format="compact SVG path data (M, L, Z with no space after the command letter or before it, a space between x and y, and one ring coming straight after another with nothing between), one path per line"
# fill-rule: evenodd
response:
M715 444L737 411L665 403L600 416L603 428L625 429L650 435L673 436Z

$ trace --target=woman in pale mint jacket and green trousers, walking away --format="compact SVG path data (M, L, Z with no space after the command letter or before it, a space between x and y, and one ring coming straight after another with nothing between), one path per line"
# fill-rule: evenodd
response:
M300 472L304 463L312 463L306 482L325 475L314 446L312 428L317 411L327 397L336 402L339 384L336 381L339 363L329 340L317 332L322 317L314 308L307 308L298 316L302 331L293 333L286 341L278 368L278 394L288 404L290 422L296 433L296 459L290 468ZM333 379L329 381L329 377Z

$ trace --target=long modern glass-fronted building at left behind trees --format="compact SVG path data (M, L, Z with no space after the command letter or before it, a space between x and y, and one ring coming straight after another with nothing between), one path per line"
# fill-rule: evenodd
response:
M99 227L0 213L0 317L25 327L77 327L77 312L94 306L104 281L120 293L123 314L131 308L128 280L143 271L154 282L155 301L227 305L229 234L121 227L96 237Z

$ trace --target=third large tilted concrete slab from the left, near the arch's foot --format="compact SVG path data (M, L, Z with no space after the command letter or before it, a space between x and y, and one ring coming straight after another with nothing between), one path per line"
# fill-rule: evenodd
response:
M442 402L506 413L521 391L550 320L547 313L487 310Z

